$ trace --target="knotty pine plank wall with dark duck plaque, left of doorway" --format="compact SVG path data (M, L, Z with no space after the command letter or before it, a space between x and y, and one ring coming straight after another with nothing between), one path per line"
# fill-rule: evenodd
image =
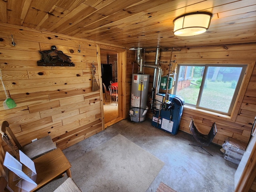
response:
M99 84L97 42L7 24L0 24L0 41L2 79L17 104L9 110L0 105L0 122L9 122L22 145L50 135L64 149L104 129L100 90L92 92L92 62ZM52 45L71 56L75 67L37 66L38 51Z

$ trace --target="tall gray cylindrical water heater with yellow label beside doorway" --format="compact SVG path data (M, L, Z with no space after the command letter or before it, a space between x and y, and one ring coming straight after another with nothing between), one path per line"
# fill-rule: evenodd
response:
M132 74L132 92L130 118L134 122L142 122L146 119L147 96L148 96L148 74Z

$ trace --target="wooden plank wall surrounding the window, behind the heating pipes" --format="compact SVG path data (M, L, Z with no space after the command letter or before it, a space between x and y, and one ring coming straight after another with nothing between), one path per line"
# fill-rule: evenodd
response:
M172 70L176 70L177 64L179 63L240 63L251 66L248 73L252 71L252 74L248 77L249 82L246 83L245 81L242 85L242 92L244 92L244 94L240 97L241 99L237 101L239 108L235 111L236 114L233 114L232 119L184 107L179 129L190 133L188 127L191 118L194 119L196 126L202 132L208 132L212 123L216 122L218 132L213 142L218 145L222 145L227 137L248 142L252 123L256 116L256 66L254 66L256 60L256 46L255 44L233 45L227 46L227 48L228 49L225 49L222 46L182 48L180 51L172 53L172 61L175 60L175 63L172 64ZM162 76L168 74L170 55L170 52L160 53L160 61L163 62L161 64L163 70ZM146 61L152 62L154 58L155 53L146 54ZM149 73L150 77L153 76L153 70L150 68L146 68L146 73ZM152 118L152 114L150 117Z

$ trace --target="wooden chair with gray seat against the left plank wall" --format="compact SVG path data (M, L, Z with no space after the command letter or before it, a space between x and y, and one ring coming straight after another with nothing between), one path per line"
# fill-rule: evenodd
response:
M6 134L6 131L8 132L16 146L14 146L14 144L11 142L10 138ZM40 138L22 147L15 135L13 134L12 130L10 129L9 123L7 121L2 122L0 126L0 133L2 134L2 139L10 148L17 160L19 160L18 150L21 150L22 152L24 152L24 154L26 154L30 159L33 160L35 158L38 158L39 156L42 156L43 154L46 154L56 149L56 145L54 144L54 142L52 142L52 138L50 136Z

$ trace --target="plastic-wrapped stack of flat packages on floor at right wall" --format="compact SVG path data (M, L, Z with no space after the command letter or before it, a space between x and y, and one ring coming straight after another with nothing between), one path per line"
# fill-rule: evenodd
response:
M246 143L234 138L227 138L222 144L224 159L239 164L246 150Z

